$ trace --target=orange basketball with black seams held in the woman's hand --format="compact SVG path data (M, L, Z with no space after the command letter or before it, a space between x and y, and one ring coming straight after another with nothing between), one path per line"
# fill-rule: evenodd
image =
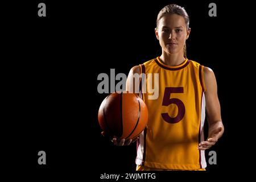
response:
M101 129L110 137L125 139L138 137L146 127L147 120L147 106L134 93L109 94L98 110Z

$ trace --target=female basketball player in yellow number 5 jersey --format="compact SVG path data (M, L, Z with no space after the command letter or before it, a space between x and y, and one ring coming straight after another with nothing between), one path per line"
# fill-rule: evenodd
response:
M164 7L155 28L162 55L131 68L127 78L126 89L130 90L134 73L159 75L159 97L150 100L147 92L141 93L148 107L148 124L137 140L137 170L205 170L204 150L224 133L214 73L187 59L185 41L190 32L183 7ZM206 141L205 109L209 123ZM117 146L131 142L113 138Z

